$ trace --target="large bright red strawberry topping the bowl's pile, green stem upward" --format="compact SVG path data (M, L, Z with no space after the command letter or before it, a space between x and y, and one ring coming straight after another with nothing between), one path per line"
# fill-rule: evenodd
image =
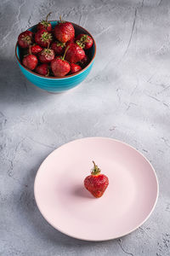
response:
M66 43L75 37L75 29L71 22L63 21L61 17L59 19L59 23L54 27L54 35L57 40Z

